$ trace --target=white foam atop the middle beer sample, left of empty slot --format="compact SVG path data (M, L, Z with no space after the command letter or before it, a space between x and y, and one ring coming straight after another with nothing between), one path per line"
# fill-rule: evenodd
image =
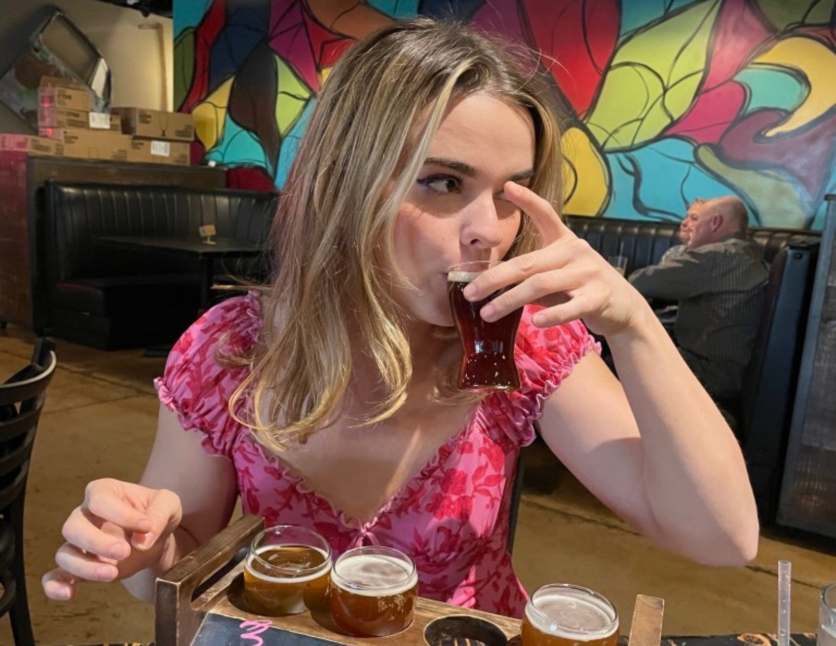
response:
M386 554L359 554L334 565L334 583L363 597L389 597L415 587L418 572L410 563Z

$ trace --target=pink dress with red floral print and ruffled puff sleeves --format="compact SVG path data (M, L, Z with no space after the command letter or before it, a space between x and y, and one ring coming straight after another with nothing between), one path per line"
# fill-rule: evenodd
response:
M527 595L507 552L517 456L534 440L532 422L543 399L595 348L583 323L539 329L531 323L533 311L526 308L517 333L522 390L483 399L465 428L365 523L305 486L227 411L247 368L218 365L217 344L224 338L247 348L256 341L262 325L256 293L230 298L194 323L155 386L184 429L201 433L212 455L232 460L245 512L264 516L268 526L314 528L335 554L360 545L396 547L415 561L422 597L521 617Z

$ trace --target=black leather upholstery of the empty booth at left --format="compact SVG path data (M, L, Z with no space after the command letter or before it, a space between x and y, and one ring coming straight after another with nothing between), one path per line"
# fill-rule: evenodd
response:
M104 236L187 236L216 226L217 235L265 239L274 195L161 186L47 183L44 187L43 266L51 327L100 348L176 339L196 317L198 265L174 254L127 251ZM252 274L255 262L217 263L217 273ZM174 336L172 337L172 333Z

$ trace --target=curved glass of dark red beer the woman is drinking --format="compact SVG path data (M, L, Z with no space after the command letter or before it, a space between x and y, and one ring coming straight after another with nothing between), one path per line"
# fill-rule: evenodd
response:
M523 309L493 323L487 323L479 316L479 310L510 287L497 290L475 303L468 301L462 293L479 274L500 262L462 262L447 272L447 294L464 350L458 382L461 390L512 391L520 388L517 364L514 363L514 341Z

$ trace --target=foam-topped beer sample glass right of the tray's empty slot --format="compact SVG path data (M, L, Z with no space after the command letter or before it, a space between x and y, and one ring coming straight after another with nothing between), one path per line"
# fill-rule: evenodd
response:
M522 638L523 646L616 646L619 615L587 588L543 586L526 605Z

